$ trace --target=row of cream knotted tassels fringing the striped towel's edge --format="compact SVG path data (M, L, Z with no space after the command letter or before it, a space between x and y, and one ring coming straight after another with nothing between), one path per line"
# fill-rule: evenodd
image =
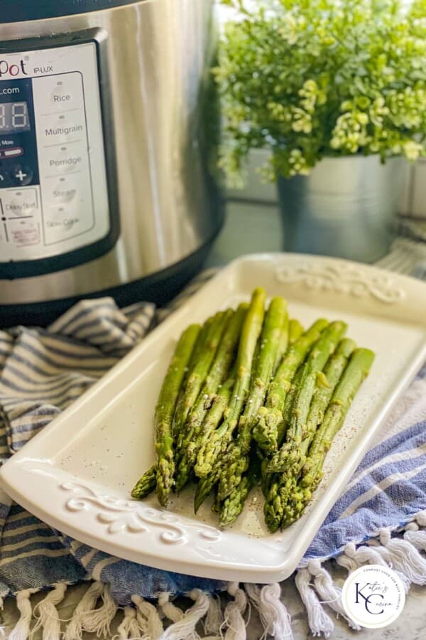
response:
M392 567L398 573L405 590L410 585L426 585L426 511L417 513L412 522L398 529L392 536L388 529L378 532L376 538L364 543L348 543L336 558L339 566L352 572L366 564ZM325 607L344 617L352 629L359 627L346 616L342 606L342 591L333 580L332 573L320 560L309 560L299 568L295 584L307 610L307 619L313 636L328 638L334 629L332 619ZM31 595L38 589L28 589L16 594L16 605L20 617L9 640L28 640L43 628L43 640L57 640L60 637L60 618L57 605L65 595L65 583L54 585L53 590L35 607L37 618L33 631L31 619ZM291 640L290 615L281 601L278 583L258 587L229 582L228 593L231 600L224 613L220 599L200 590L187 594L194 601L186 611L180 609L170 599L170 594L158 595L158 603L151 604L139 595L132 596L134 607L124 608L124 618L114 636L116 640L246 640L246 610L253 605L263 624L262 638L271 635L276 640ZM99 599L101 603L98 604ZM109 585L92 582L87 592L75 608L67 625L63 640L82 640L83 631L97 634L99 638L111 637L110 626L118 607L111 597ZM168 619L171 622L165 622ZM200 628L204 634L200 636ZM166 627L166 629L165 629ZM0 639L1 639L0 628Z

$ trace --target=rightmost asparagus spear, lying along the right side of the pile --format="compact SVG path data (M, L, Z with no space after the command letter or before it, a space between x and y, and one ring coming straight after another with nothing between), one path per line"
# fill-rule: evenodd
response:
M356 349L352 354L334 390L324 420L315 433L309 449L309 457L302 469L302 479L297 489L293 491L290 503L285 509L282 527L288 527L300 518L307 504L310 503L312 494L322 479L322 466L332 440L342 427L351 402L368 375L373 360L374 354L369 349Z

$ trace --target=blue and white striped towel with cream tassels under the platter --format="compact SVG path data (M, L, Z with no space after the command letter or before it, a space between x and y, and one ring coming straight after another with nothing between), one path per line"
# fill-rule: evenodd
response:
M151 304L120 311L104 298L80 302L45 330L0 331L0 460L18 451L138 343L154 316ZM425 510L426 368L400 400L297 572L313 633L328 636L333 628L322 602L344 614L330 563L324 565L327 558L347 570L364 562L392 562L407 587L426 584ZM55 607L66 585L80 580L94 582L67 624L65 640L80 640L82 630L109 639L117 607L124 607L123 639L195 640L200 637L195 626L205 619L210 640L223 637L226 629L226 639L244 640L248 602L259 610L269 634L291 636L279 585L243 588L112 558L53 530L0 494L0 597L15 595L21 612L9 638L26 640L31 594L48 587L53 589L38 604L36 624L43 626L43 638L59 638ZM211 594L225 590L222 613ZM174 594L195 601L185 615L170 601Z

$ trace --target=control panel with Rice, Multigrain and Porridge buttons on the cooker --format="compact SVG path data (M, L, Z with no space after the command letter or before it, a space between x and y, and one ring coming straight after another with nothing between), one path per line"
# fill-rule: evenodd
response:
M94 41L0 50L0 278L114 244L98 69Z

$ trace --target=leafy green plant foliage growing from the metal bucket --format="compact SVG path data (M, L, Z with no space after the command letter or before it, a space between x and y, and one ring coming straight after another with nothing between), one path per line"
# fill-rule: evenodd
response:
M266 178L324 156L426 155L426 0L223 0L221 164L239 176L269 147Z

